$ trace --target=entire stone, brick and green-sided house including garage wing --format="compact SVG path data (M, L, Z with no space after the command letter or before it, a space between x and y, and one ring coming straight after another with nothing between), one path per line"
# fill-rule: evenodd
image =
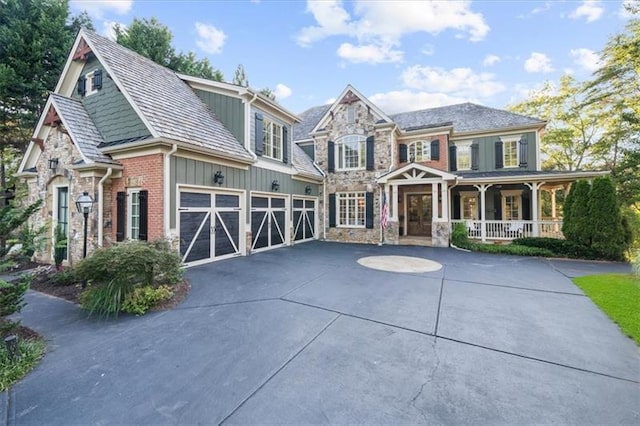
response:
M56 228L68 264L85 238L165 238L187 265L314 239L446 246L459 221L483 240L558 234L541 191L598 173L541 171L544 125L473 104L388 115L352 86L297 116L82 29L18 175L44 200L43 262Z

